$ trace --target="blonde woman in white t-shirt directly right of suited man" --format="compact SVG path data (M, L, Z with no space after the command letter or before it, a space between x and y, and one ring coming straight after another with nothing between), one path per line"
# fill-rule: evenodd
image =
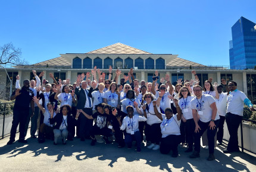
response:
M105 85L101 82L101 83L98 84L98 89L97 90L92 91L92 93L90 93L90 91L92 89L90 89L90 91L89 91L88 95L89 95L89 97L92 97L92 100L93 100L93 103L92 103L93 104L93 108L92 108L93 113L96 112L95 106L98 105L99 103L103 103L103 95L104 95L103 90L104 90L104 88L105 88Z

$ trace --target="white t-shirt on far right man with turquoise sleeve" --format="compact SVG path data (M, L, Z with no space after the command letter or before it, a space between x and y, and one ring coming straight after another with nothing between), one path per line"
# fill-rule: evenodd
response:
M243 104L246 95L242 91L235 90L229 93L227 96L227 113L238 114L243 116Z

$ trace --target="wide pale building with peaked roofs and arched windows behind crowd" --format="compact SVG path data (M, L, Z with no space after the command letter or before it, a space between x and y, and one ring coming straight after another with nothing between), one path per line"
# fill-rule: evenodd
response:
M35 79L32 69L38 72L45 72L45 78L53 82L49 73L53 73L55 79L70 78L71 82L76 81L78 74L90 72L94 66L105 72L108 78L108 68L113 67L113 78L116 69L121 70L120 77L127 75L130 68L133 68L134 75L139 80L152 82L155 71L159 71L160 78L170 75L170 81L173 85L177 79L194 79L191 74L195 70L200 79L202 86L208 78L213 78L213 82L220 84L221 79L227 81L234 80L238 82L238 89L248 95L252 101L256 101L256 70L237 70L220 68L217 66L205 66L199 63L191 62L186 59L178 58L178 55L171 54L152 54L143 50L135 49L125 44L116 43L88 53L67 53L61 54L60 57L49 59L44 62L26 66L14 66L7 68L8 75L12 79L10 83L5 70L0 68L0 99L8 99L10 93L10 84L15 87L15 77L20 75L20 80ZM43 78L40 78L43 79ZM119 78L120 79L120 78Z

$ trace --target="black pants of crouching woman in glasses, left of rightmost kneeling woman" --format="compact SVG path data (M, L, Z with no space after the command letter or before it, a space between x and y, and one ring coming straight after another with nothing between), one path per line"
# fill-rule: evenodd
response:
M147 130L147 139L151 141L152 144L160 144L162 133L160 128L161 123L154 123L151 126L146 124L145 130Z

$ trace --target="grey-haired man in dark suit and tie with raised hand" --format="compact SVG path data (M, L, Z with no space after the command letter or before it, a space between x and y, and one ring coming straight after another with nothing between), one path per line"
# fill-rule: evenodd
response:
M87 77L86 77L87 79ZM81 84L81 87L79 85ZM88 96L89 90L87 89L87 81L80 81L77 79L77 87L74 93L77 95L77 109L82 109L83 112L88 115L92 115L92 99ZM79 116L79 136L81 141L85 141L85 138L90 137L90 131L92 130L93 119L88 119L84 115Z

